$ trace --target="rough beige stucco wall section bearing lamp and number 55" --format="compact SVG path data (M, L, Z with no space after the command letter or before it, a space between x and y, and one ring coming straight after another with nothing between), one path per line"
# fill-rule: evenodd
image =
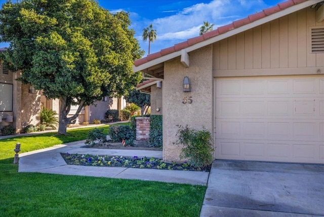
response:
M179 161L181 148L175 144L178 127L182 125L213 133L213 77L212 45L189 53L190 67L184 67L180 58L165 62L163 104L164 160ZM184 93L183 78L189 77L191 92ZM191 104L183 104L182 97L192 96Z

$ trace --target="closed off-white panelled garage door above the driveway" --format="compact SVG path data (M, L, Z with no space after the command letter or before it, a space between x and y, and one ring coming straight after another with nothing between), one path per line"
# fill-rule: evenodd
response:
M324 76L215 83L217 159L324 163Z

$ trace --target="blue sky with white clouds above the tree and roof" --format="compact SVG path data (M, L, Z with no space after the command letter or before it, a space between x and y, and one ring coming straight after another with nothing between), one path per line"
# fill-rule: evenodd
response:
M142 30L151 23L157 31L157 40L150 53L168 48L199 35L204 21L218 26L260 12L285 0L99 0L99 5L111 13L130 12L131 28L141 49L148 53L148 42L142 40ZM3 2L3 0L1 0ZM2 43L0 47L8 46Z

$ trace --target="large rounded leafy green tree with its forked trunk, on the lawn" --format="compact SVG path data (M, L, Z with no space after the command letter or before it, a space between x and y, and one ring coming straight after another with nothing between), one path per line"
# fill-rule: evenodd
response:
M15 1L13 1L15 2ZM125 95L140 80L132 65L144 53L126 12L112 14L93 0L25 0L0 10L2 58L23 83L60 99L59 134L80 110L103 96ZM78 105L67 117L70 106Z

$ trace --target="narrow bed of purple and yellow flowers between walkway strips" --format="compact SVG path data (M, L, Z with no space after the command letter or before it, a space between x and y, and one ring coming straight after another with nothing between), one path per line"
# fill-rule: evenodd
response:
M165 163L158 158L148 158L137 156L109 156L109 155L83 155L60 153L65 162L69 165L80 166L108 166L108 167L128 167L128 168L143 168L143 169L165 169L165 170L185 170L185 171L206 171L209 172L211 166L204 169L191 167L188 163L182 164L172 162Z

